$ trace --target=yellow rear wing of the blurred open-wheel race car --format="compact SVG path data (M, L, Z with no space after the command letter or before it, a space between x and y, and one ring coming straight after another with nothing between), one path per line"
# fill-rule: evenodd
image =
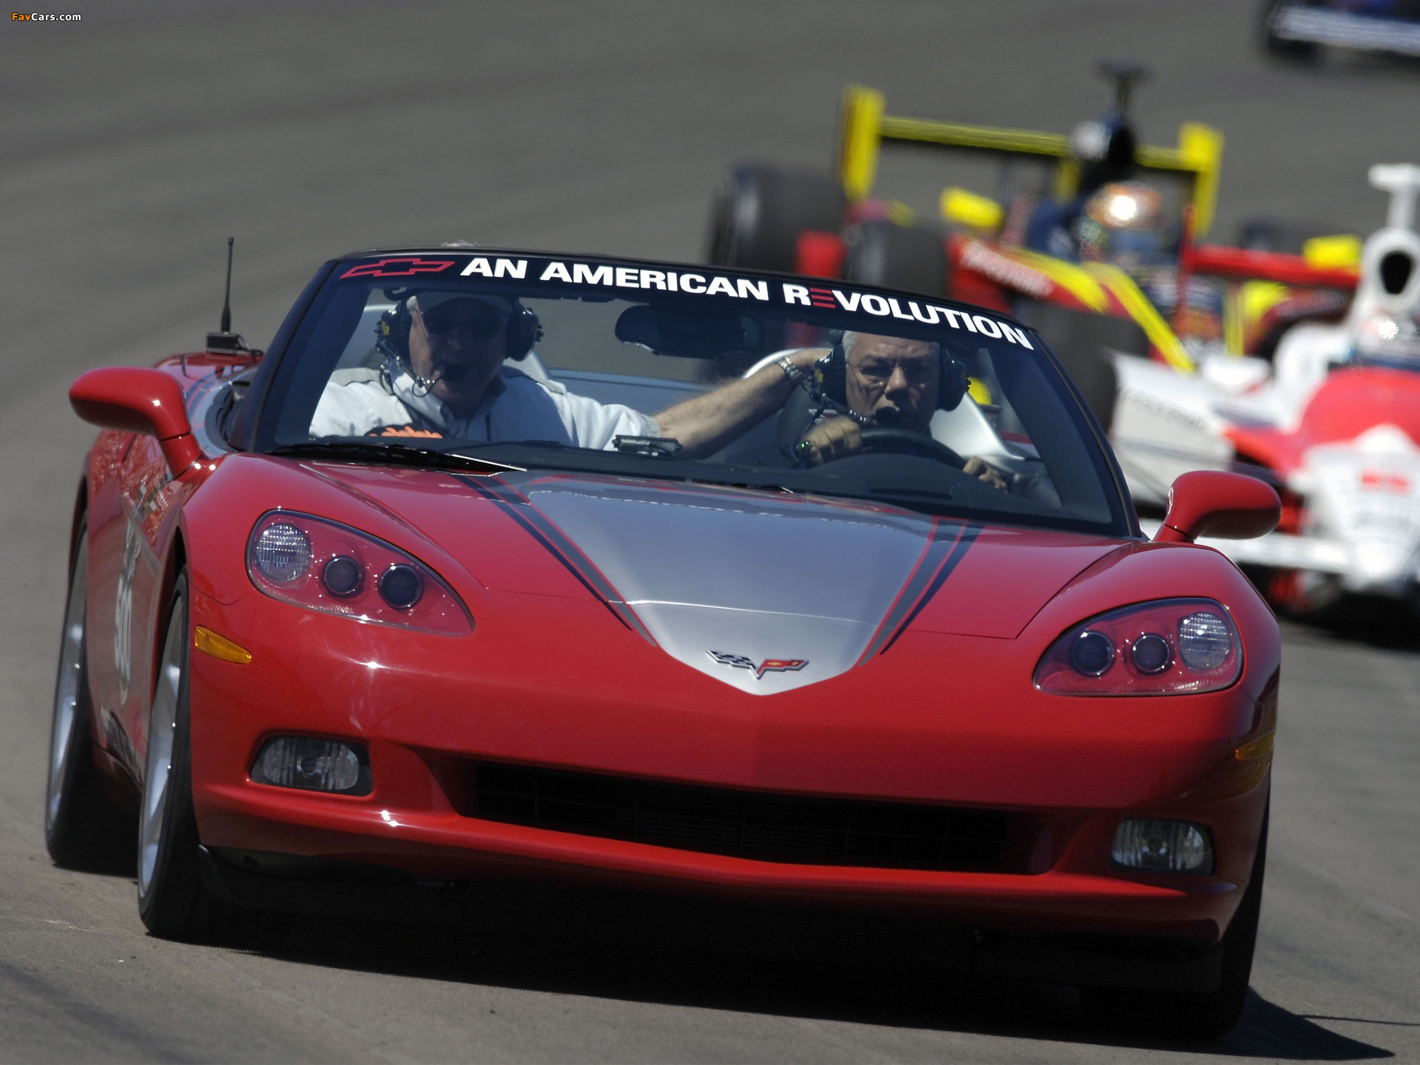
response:
M1055 169L1056 196L1066 199L1075 193L1079 173L1069 152L1069 138L1064 133L897 118L883 114L885 102L882 92L863 85L849 85L843 89L836 169L851 202L866 199L872 192L878 175L878 153L885 141L1056 159L1059 160ZM1193 236L1200 237L1207 233L1218 197L1223 133L1200 122L1184 122L1179 128L1177 148L1139 145L1135 149L1135 162L1143 170L1191 178Z

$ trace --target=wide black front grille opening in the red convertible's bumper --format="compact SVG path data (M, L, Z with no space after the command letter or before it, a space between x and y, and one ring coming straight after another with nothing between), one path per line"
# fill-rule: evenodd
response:
M1007 816L926 804L809 798L481 763L486 821L764 862L995 869Z

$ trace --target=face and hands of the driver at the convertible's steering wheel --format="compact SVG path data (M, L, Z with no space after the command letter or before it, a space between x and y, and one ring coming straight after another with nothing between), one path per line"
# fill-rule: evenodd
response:
M870 332L845 332L842 344L848 369L843 385L852 413L825 417L799 437L794 449L799 460L818 466L856 454L868 426L930 436L941 376L937 345ZM1007 487L1001 474L980 457L967 459L963 471L997 488Z

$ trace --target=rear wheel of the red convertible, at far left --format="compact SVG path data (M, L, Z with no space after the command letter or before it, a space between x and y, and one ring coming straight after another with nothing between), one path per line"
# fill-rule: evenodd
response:
M91 869L122 838L125 818L94 764L94 711L88 686L88 525L81 520L54 680L44 845L55 865Z

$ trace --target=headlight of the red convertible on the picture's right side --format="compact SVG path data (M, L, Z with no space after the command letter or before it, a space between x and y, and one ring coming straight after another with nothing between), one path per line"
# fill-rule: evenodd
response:
M1062 696L1216 692L1242 672L1242 643L1211 599L1159 599L1076 625L1035 667L1035 686Z

